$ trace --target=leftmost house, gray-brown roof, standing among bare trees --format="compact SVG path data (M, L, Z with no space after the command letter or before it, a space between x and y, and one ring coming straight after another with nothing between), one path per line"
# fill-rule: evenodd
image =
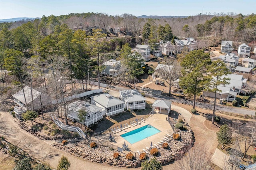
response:
M31 88L28 86L25 86L23 89L25 97L23 90L18 91L17 93L12 95L14 99L14 113L16 115L16 118L21 119L22 113L26 112L27 110L32 110L32 104L34 105L34 110L52 104L52 99L50 96L43 94L33 88L31 95Z

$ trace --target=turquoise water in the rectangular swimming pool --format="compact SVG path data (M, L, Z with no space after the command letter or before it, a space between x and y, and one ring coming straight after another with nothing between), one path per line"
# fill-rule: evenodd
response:
M121 136L130 142L130 144L134 144L144 138L147 138L149 136L152 136L154 134L157 134L161 132L157 128L152 127L151 125L146 125L144 127L137 128L135 130L132 130L130 132L127 132L125 134L122 134Z

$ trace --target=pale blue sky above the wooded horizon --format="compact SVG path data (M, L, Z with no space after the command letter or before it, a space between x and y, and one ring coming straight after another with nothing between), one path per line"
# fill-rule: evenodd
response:
M256 13L256 0L0 0L0 19L41 18L70 13L194 16L220 12Z

